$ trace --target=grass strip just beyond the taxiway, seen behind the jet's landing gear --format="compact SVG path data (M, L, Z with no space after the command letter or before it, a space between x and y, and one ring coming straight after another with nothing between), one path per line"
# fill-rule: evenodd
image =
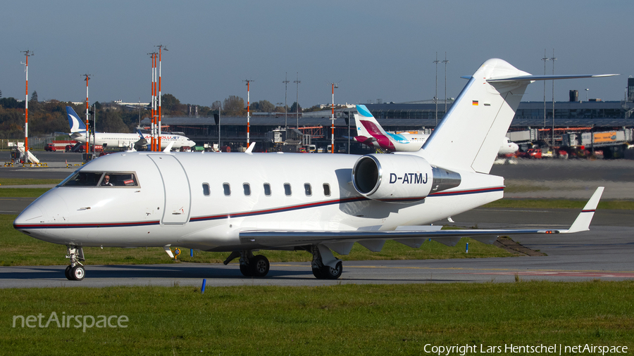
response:
M68 265L65 258L66 246L34 239L13 229L16 215L0 215L0 266ZM469 243L469 253L465 244ZM312 255L304 251L260 252L271 262L309 262ZM194 251L189 257L189 249L183 248L178 261L168 257L163 248L84 248L87 265L145 265L153 263L203 262L220 263L229 253ZM335 254L337 255L337 254ZM423 243L421 248L409 248L394 241L386 241L381 252L373 253L358 243L349 255L337 255L342 260L423 260L430 258L485 258L510 257L501 248L485 245L472 239L462 239L456 246L448 247L435 241ZM237 261L237 260L235 260Z

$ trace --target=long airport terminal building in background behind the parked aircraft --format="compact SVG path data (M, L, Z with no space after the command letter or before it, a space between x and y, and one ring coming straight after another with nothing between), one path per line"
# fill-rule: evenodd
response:
M571 98L573 96L571 91ZM418 131L430 133L445 115L445 102L421 101L410 103L366 103L370 112L386 131ZM447 102L447 111L451 110L452 102ZM552 136L554 127L555 139L559 141L568 132L590 132L590 130L612 130L630 128L634 126L634 102L631 101L567 101L546 103L528 101L518 106L516 115L509 131L534 129L540 132L540 139ZM346 151L363 151L363 146L356 144L354 113L356 108L340 108L335 110L335 147L345 147ZM331 140L331 111L323 110L311 113L253 113L249 120L249 136L251 141L261 142L263 146L271 146L271 132L276 129L296 129L295 136L309 136L297 138L304 145L313 144L326 147ZM190 115L185 117L163 117L162 124L168 126L168 131L182 132L185 136L203 144L218 144L239 149L247 146L247 117L199 117ZM149 127L149 119L142 121L144 127ZM218 132L220 129L220 132ZM298 131L299 130L299 131ZM631 135L631 134L630 134ZM309 142L307 142L309 141ZM631 141L631 138L627 141Z

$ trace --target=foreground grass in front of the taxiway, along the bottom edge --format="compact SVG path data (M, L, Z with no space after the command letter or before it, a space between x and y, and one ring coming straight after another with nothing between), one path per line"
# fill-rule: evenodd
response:
M233 286L204 294L180 286L2 289L0 344L23 355L423 355L427 344L475 345L467 353L475 355L480 345L511 343L630 351L633 293L634 281ZM14 315L42 314L46 324L51 312L129 321L85 332L75 320L65 329L13 328Z

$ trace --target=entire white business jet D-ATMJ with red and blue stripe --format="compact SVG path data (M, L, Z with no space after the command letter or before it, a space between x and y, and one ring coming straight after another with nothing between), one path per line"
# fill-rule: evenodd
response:
M463 236L493 243L500 235L585 231L602 187L569 229L421 226L502 198L504 178L488 173L524 90L565 77L592 75L533 76L490 59L411 153L251 153L253 146L232 154L113 153L37 198L13 227L66 245L70 280L85 276L84 246L225 251L225 263L240 258L242 274L260 277L270 265L254 251L305 250L317 278L337 279L342 262L332 251L346 255L355 242L380 251L386 240L418 248L428 239L454 246Z

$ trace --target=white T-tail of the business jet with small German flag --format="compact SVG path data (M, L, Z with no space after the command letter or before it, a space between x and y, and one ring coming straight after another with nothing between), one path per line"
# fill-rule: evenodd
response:
M432 164L487 174L528 84L607 76L611 75L530 75L506 61L490 59L466 78L469 82L421 154Z

